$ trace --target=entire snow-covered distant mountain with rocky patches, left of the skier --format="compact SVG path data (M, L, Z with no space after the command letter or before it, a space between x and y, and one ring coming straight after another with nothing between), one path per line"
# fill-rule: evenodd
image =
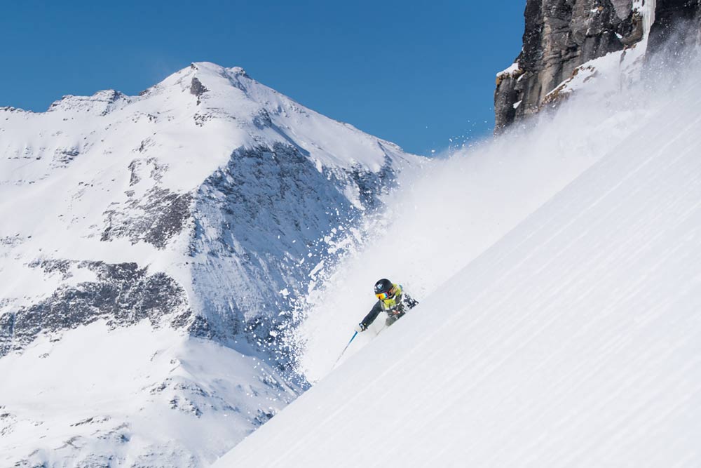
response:
M0 464L231 448L301 392L288 361L259 362L334 233L421 163L211 63L139 96L1 108Z

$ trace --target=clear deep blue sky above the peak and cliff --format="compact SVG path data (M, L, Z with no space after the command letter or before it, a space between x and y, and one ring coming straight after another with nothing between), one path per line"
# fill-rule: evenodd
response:
M136 94L207 60L408 151L491 131L494 76L521 49L526 0L13 1L0 106Z

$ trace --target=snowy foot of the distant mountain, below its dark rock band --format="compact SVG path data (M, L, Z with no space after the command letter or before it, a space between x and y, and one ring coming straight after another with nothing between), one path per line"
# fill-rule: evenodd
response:
M0 466L197 467L293 401L254 356L104 321L0 359Z

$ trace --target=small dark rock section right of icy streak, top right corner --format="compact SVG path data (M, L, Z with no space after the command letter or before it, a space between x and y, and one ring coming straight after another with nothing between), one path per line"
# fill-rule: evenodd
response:
M658 0L648 50L678 53L701 42L701 0Z

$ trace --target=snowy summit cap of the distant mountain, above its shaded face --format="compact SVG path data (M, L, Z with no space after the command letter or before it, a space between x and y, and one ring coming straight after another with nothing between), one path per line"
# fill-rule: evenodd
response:
M188 104L199 115L235 121L234 127L245 131L241 135L244 146L261 141L294 142L324 166L358 163L372 171L379 171L388 153L402 157L397 145L308 109L255 81L241 67L195 62L149 88L142 98L162 95L173 100L188 93ZM344 144L338 145L341 139Z

